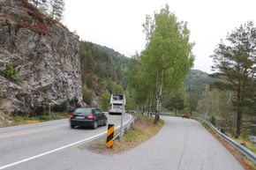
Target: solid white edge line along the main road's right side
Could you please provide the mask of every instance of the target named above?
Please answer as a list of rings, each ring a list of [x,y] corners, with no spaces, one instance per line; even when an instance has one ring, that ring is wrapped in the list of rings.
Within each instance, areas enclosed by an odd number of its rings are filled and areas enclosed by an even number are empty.
[[[130,116],[129,120],[128,120],[127,122],[124,122],[124,125],[131,121],[132,115],[129,115],[129,116]],[[119,127],[120,127],[120,125],[118,125],[116,129],[118,129]],[[78,142],[75,142],[75,143],[72,143],[72,144],[67,144],[67,145],[64,145],[64,146],[62,146],[62,147],[56,148],[55,150],[51,150],[51,151],[49,151],[49,152],[43,152],[43,153],[41,153],[41,154],[35,155],[34,157],[30,157],[30,158],[28,158],[28,159],[22,159],[22,160],[19,160],[19,161],[17,161],[17,162],[13,162],[13,163],[11,163],[11,164],[7,164],[7,165],[5,165],[5,166],[0,166],[0,170],[5,169],[5,168],[7,168],[7,167],[19,165],[19,164],[21,164],[21,163],[27,162],[27,161],[32,160],[32,159],[38,159],[38,158],[40,158],[40,157],[42,157],[42,156],[48,155],[48,154],[53,153],[53,152],[58,152],[58,151],[60,151],[60,150],[64,150],[65,148],[71,147],[71,146],[73,146],[73,145],[76,145],[76,144],[79,144],[79,143],[82,143],[82,142],[86,142],[86,141],[91,140],[91,139],[94,139],[94,138],[96,138],[96,137],[101,137],[101,136],[103,136],[103,135],[106,134],[106,133],[107,133],[107,131],[104,131],[104,132],[102,132],[102,133],[100,133],[100,134],[97,134],[97,135],[95,135],[95,136],[93,136],[93,137],[87,137],[87,138],[85,138],[85,139],[79,140]]]

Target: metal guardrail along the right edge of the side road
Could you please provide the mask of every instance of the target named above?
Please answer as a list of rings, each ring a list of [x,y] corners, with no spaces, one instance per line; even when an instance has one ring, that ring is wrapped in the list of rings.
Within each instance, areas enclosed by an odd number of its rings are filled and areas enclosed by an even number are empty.
[[[204,119],[201,119],[199,117],[193,117],[193,119],[196,120],[200,120],[201,122],[205,122],[207,123],[207,125],[209,127],[211,127],[211,129],[213,129],[215,131],[216,134],[218,134],[220,137],[222,137],[222,139],[224,139],[225,141],[227,141],[229,144],[231,144],[232,146],[234,146],[239,152],[241,152],[242,154],[245,155],[245,157],[247,157],[248,159],[251,159],[252,162],[254,164],[256,164],[256,155],[255,153],[251,152],[250,150],[248,150],[245,146],[243,146],[242,144],[237,143],[236,141],[234,141],[233,139],[231,139],[230,137],[226,136],[225,134],[223,134],[220,130],[216,129],[215,126],[210,123],[207,122]]]

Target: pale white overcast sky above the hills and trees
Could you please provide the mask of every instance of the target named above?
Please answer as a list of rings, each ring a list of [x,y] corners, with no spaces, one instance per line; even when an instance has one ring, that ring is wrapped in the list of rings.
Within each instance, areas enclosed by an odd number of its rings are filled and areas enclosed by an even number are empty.
[[[164,4],[187,21],[196,56],[193,69],[210,72],[216,45],[248,20],[256,23],[256,0],[65,0],[64,25],[81,40],[131,57],[145,48],[142,23]],[[255,24],[254,24],[255,26]]]

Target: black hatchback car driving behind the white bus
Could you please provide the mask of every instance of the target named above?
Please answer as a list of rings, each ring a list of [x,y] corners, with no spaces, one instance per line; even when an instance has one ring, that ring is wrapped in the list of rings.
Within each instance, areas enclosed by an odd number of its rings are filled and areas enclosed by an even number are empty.
[[[108,118],[99,108],[77,108],[70,115],[71,128],[90,126],[96,129],[99,125],[106,126]]]

